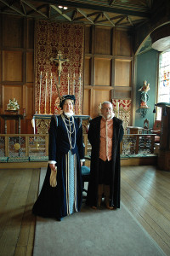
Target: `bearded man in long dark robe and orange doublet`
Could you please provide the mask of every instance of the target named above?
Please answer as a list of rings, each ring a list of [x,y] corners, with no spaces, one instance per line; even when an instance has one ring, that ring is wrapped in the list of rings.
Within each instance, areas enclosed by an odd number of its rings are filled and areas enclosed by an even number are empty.
[[[102,196],[108,209],[120,208],[120,143],[122,120],[114,117],[111,102],[103,102],[101,115],[90,121],[88,140],[92,145],[87,204],[97,209]]]

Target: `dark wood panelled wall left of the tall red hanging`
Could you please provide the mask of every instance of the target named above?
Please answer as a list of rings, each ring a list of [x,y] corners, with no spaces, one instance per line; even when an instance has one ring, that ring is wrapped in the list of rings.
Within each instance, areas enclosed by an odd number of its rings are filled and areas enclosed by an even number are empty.
[[[21,133],[33,133],[34,114],[34,20],[18,16],[0,15],[0,108],[7,109],[9,99],[20,104]],[[7,132],[14,133],[14,122],[8,120]],[[1,119],[1,133],[4,120]]]

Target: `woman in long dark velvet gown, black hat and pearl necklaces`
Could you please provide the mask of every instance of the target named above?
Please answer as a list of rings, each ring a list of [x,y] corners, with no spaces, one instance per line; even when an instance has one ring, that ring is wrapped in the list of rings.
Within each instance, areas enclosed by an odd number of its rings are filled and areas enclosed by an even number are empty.
[[[60,99],[63,113],[53,116],[49,128],[48,170],[32,212],[61,218],[81,210],[84,158],[81,119],[73,116],[75,96]]]

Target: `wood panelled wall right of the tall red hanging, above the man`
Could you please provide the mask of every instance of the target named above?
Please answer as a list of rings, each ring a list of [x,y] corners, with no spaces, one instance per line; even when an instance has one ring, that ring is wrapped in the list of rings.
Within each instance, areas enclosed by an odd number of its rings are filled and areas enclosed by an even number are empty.
[[[83,113],[93,118],[99,103],[113,98],[133,98],[132,36],[115,27],[86,26]]]

